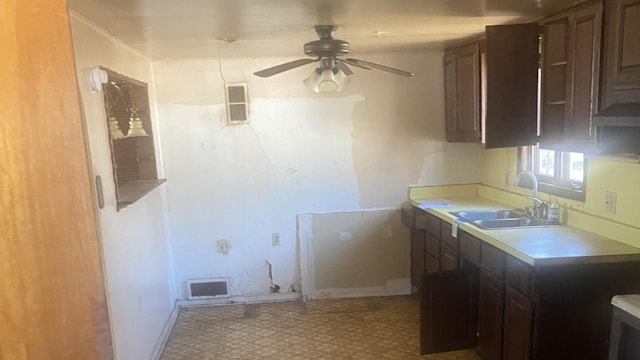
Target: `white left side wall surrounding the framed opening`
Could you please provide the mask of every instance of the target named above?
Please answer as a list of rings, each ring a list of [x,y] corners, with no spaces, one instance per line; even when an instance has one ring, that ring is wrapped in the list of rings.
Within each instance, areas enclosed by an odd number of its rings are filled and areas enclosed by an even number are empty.
[[[99,210],[99,222],[115,355],[119,360],[149,359],[176,299],[166,194],[161,186],[116,211],[103,95],[91,93],[87,76],[89,67],[102,65],[153,89],[151,63],[73,13],[71,29],[93,173],[102,176],[104,185],[106,204]],[[154,94],[150,95],[153,104]],[[152,121],[155,118],[152,108]],[[157,128],[154,132],[158,133]]]

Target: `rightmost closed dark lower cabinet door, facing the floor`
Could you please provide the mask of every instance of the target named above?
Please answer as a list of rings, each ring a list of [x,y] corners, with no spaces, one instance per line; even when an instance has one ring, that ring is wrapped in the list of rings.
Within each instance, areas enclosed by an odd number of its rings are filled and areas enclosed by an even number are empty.
[[[531,359],[533,305],[528,297],[507,288],[504,307],[504,360]]]

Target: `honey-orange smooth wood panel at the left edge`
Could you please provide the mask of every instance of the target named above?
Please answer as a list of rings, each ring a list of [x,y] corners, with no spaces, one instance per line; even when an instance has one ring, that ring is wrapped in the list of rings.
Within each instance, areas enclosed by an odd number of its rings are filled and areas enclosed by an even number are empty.
[[[114,358],[68,11],[0,10],[0,359]]]

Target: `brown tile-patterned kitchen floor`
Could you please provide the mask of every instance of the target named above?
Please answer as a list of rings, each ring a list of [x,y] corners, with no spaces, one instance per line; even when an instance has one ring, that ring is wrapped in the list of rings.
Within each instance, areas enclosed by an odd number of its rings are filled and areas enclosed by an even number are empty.
[[[183,308],[162,360],[481,360],[419,355],[418,297]]]

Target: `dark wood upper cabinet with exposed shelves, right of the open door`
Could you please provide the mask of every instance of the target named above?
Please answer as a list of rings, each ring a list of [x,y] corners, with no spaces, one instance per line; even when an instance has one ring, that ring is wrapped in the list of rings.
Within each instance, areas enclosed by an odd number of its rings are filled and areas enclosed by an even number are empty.
[[[598,109],[602,2],[542,22],[540,144],[585,151],[593,146],[591,120]]]

